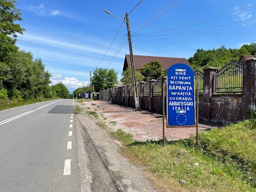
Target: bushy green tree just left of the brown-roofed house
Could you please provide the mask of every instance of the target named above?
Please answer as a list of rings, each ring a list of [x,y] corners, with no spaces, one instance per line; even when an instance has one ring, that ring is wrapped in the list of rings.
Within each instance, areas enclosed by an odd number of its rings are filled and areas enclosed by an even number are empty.
[[[93,71],[91,85],[99,92],[102,89],[113,88],[117,83],[117,72],[114,69],[96,68]]]

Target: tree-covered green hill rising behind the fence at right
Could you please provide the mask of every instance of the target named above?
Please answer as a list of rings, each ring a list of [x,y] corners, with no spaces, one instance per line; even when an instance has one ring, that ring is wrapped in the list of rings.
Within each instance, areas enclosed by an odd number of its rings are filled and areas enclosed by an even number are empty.
[[[188,61],[193,68],[221,67],[230,60],[238,61],[242,54],[256,55],[256,43],[244,44],[240,49],[227,49],[224,45],[219,49],[198,49]]]

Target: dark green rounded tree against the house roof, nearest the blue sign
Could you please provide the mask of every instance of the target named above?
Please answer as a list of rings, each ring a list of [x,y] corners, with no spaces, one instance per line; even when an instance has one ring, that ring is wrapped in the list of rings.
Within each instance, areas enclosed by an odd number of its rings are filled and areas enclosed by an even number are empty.
[[[146,63],[140,69],[141,69],[141,74],[145,77],[143,79],[144,81],[157,79],[158,77],[163,76],[163,66],[157,60]]]

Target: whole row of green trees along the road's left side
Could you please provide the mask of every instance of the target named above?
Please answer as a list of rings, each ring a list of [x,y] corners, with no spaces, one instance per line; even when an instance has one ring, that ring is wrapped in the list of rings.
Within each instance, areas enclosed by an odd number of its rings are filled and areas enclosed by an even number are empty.
[[[65,85],[50,86],[51,74],[45,70],[42,59],[19,50],[15,45],[17,34],[25,31],[17,21],[22,21],[15,0],[0,1],[0,103],[37,98],[68,98]]]

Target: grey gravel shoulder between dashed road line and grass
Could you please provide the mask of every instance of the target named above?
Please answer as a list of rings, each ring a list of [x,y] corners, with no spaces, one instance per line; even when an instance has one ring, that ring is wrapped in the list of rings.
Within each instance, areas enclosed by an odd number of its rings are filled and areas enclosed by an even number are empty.
[[[119,153],[118,142],[96,123],[88,114],[76,114],[81,191],[155,191],[141,169]]]

